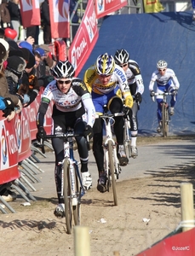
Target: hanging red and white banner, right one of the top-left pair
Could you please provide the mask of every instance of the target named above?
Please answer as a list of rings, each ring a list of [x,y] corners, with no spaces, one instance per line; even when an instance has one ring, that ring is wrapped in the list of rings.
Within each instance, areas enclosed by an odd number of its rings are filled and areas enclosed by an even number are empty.
[[[49,0],[52,38],[70,38],[70,0]]]

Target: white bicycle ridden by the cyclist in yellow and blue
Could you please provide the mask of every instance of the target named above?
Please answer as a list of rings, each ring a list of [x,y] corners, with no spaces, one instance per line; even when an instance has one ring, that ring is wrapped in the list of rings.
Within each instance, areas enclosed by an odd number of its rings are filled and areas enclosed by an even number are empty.
[[[104,148],[104,165],[106,171],[106,189],[109,192],[112,186],[113,201],[114,205],[118,206],[118,196],[116,189],[116,180],[119,178],[121,173],[121,167],[119,166],[117,156],[117,143],[112,137],[112,125],[114,125],[115,116],[123,116],[123,113],[108,113],[106,106],[104,107],[104,114],[96,116],[101,118],[105,124],[106,137],[103,142]]]

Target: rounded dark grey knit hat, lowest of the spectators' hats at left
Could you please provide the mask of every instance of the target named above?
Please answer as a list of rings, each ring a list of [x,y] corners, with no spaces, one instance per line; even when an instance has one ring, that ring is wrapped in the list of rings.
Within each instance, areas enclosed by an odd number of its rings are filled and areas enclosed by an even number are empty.
[[[26,68],[26,61],[19,56],[11,56],[8,58],[8,64],[6,69],[14,73],[15,75],[21,75]]]

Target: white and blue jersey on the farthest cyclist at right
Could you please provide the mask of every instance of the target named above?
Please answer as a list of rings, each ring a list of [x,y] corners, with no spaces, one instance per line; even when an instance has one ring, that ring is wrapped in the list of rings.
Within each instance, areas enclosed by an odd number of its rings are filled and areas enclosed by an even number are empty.
[[[170,68],[166,69],[166,72],[164,73],[163,76],[158,72],[158,70],[152,73],[152,79],[149,84],[149,90],[153,90],[155,82],[157,82],[158,87],[165,87],[166,85],[170,85],[174,89],[179,89],[180,87],[180,83],[177,77],[175,76],[175,72],[173,71],[173,69]]]

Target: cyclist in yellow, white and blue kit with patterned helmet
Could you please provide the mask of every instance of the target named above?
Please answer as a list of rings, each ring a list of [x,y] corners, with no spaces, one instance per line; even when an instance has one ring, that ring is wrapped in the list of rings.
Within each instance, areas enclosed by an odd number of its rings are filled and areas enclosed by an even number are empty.
[[[95,65],[89,67],[84,73],[84,82],[87,84],[89,92],[92,95],[92,101],[95,105],[95,111],[98,114],[104,112],[104,105],[111,113],[120,113],[123,111],[123,101],[128,107],[129,114],[133,106],[133,99],[129,92],[127,78],[123,68],[115,64],[112,55],[107,53],[98,56]],[[128,164],[128,158],[123,148],[123,117],[115,117],[114,132],[118,143],[118,160],[121,166]],[[98,167],[99,179],[97,189],[100,192],[106,192],[106,172],[104,169],[104,151],[102,148],[103,140],[103,120],[95,119],[93,127],[93,153]]]

